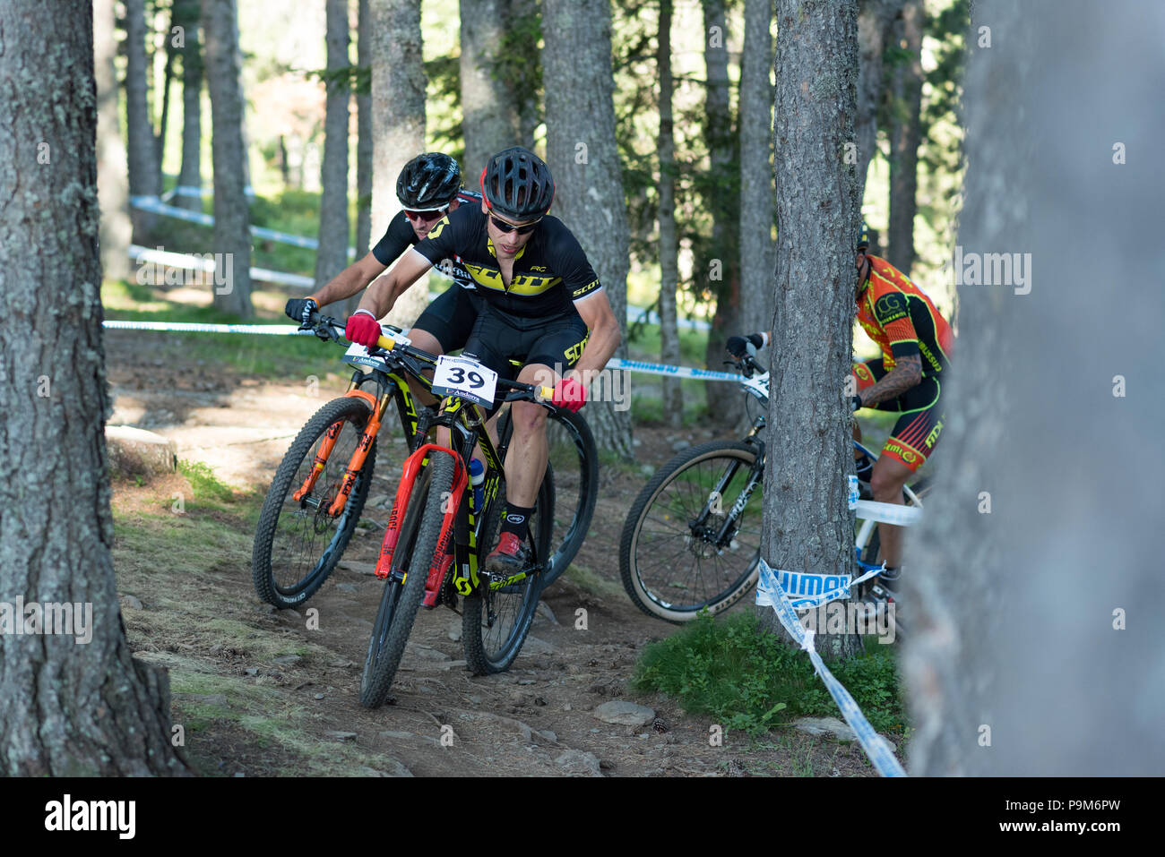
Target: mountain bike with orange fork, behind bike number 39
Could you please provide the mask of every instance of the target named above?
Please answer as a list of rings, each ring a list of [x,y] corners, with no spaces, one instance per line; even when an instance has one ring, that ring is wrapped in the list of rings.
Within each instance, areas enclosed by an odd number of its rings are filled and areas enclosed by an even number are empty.
[[[341,339],[343,325],[318,312],[309,326],[320,339]],[[397,327],[386,330],[401,334]],[[252,578],[259,597],[280,609],[305,603],[343,557],[368,497],[377,435],[391,420],[390,405],[395,405],[409,452],[419,442],[418,423],[428,409],[412,395],[400,355],[373,355],[352,346],[343,360],[353,367],[347,392],[320,408],[299,431],[259,516]],[[431,388],[424,374],[414,377],[424,389]],[[559,512],[546,562],[560,573],[591,525],[598,496],[598,454],[591,430],[579,415],[556,408],[548,418],[551,463],[546,479],[557,488]],[[497,431],[504,448],[513,432],[508,409],[499,418]]]

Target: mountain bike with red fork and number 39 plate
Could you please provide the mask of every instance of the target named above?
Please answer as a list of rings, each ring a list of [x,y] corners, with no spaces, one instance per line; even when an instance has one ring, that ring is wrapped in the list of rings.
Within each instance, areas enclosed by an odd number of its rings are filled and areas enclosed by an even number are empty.
[[[529,562],[513,574],[481,567],[499,532],[506,456],[506,445],[495,448],[485,428],[482,409],[497,404],[495,391],[501,389],[508,390],[504,402],[534,402],[555,410],[545,401],[553,388],[500,378],[472,355],[436,357],[400,337],[382,338],[381,347],[414,377],[423,366],[432,366],[431,389],[443,399],[436,413],[418,420],[423,442],[404,462],[376,562],[384,589],[360,681],[360,703],[367,708],[379,707],[388,696],[419,607],[445,604],[457,610],[460,596],[467,667],[479,675],[502,672],[522,650],[542,592],[566,568],[550,553],[555,507],[550,468],[528,524]],[[474,449],[485,460],[480,507],[468,479]]]

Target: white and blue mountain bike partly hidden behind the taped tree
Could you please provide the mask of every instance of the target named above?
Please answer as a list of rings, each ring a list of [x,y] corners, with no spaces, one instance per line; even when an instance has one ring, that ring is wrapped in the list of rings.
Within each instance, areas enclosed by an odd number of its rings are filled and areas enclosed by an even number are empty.
[[[648,616],[673,624],[691,622],[701,610],[727,610],[756,586],[769,373],[747,354],[739,368],[742,390],[760,404],[749,432],[677,454],[643,487],[623,525],[623,589]],[[877,459],[857,441],[854,448]],[[861,498],[873,500],[868,483],[859,488]],[[925,480],[906,487],[906,504],[922,507],[927,490]],[[862,572],[881,568],[875,522],[857,522],[854,548]],[[855,597],[864,597],[871,585],[860,585]]]

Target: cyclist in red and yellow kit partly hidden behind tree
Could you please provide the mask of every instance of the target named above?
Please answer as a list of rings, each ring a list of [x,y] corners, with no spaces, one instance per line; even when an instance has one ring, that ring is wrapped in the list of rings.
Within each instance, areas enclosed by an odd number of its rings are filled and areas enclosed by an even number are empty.
[[[949,367],[954,333],[926,293],[884,258],[870,254],[869,246],[863,224],[854,258],[856,318],[881,346],[882,355],[853,364],[856,395],[852,405],[855,411],[875,408],[902,413],[864,477],[874,500],[902,504],[903,487],[934,451],[942,431],[941,378]],[[769,335],[732,337],[727,349],[740,360],[768,345]],[[861,440],[856,423],[854,439]],[[880,523],[878,538],[885,560],[882,581],[892,589],[902,569],[902,529]]]

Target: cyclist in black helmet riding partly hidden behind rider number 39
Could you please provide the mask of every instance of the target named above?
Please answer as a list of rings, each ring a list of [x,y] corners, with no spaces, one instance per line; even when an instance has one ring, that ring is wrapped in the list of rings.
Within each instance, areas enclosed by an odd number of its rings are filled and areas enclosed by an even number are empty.
[[[457,161],[439,151],[417,155],[404,165],[396,179],[396,198],[403,210],[389,221],[376,246],[318,292],[288,300],[283,310],[288,316],[306,324],[313,310],[366,289],[402,253],[425,238],[446,213],[457,211],[460,205],[476,206],[481,201],[481,194],[461,189],[461,168]],[[440,260],[436,268],[451,277],[453,285],[421,313],[409,331],[409,339],[421,350],[447,354],[465,346],[478,320],[481,302],[473,278],[456,255]],[[356,312],[368,313],[367,310]],[[409,383],[415,395],[429,403],[435,401],[411,378]]]

